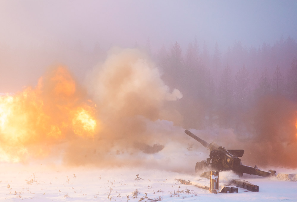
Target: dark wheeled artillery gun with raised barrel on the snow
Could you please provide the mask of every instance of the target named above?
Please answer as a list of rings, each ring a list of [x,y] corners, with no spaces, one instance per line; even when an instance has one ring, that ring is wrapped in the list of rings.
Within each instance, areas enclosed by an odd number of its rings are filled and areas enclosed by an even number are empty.
[[[207,158],[206,161],[203,160],[196,163],[196,173],[206,169],[212,169],[215,171],[233,170],[240,176],[242,176],[243,173],[247,173],[250,175],[259,175],[262,177],[275,176],[276,171],[274,170],[263,171],[258,169],[257,166],[251,167],[243,165],[240,158],[238,158],[242,157],[242,155],[244,154],[244,150],[242,149],[226,150],[224,147],[217,145],[215,142],[212,142],[210,144],[207,143],[188,130],[185,130],[185,133],[200,142],[210,151],[209,158]]]

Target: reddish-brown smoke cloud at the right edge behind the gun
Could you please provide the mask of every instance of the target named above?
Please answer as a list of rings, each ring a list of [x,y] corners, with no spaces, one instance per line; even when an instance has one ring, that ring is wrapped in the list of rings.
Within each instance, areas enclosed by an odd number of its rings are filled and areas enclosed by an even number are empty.
[[[250,117],[254,130],[247,141],[247,161],[259,165],[296,168],[297,120],[295,103],[282,96],[268,95],[255,103]],[[269,166],[267,166],[269,167]]]

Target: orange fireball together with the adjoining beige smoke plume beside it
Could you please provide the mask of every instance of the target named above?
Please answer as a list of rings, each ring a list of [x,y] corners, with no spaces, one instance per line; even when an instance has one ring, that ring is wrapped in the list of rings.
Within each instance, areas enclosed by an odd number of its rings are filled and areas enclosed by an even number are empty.
[[[181,97],[137,49],[111,50],[88,74],[86,88],[67,67],[49,68],[35,88],[1,96],[1,161],[141,165],[170,138],[162,137],[163,126],[154,131],[148,124],[170,123],[164,105]]]

